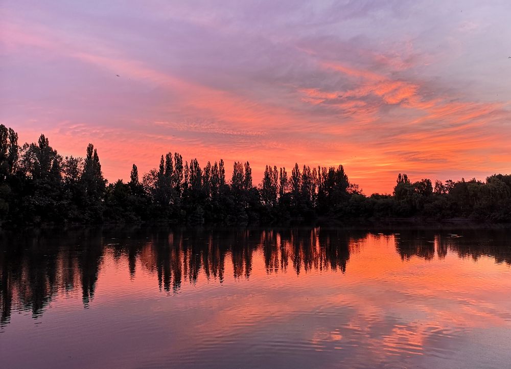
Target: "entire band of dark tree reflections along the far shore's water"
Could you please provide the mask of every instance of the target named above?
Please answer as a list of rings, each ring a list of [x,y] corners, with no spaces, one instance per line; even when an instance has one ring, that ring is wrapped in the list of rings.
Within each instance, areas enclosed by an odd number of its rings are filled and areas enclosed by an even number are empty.
[[[384,235],[393,240],[403,260],[449,252],[477,260],[483,256],[511,265],[511,235],[503,230],[451,233],[401,230]],[[83,305],[92,303],[104,258],[124,263],[131,279],[137,267],[154,275],[160,290],[176,293],[183,281],[201,278],[223,283],[232,264],[234,278],[249,278],[254,259],[266,273],[313,270],[346,271],[347,261],[365,232],[315,228],[105,228],[72,230],[64,235],[21,234],[0,239],[0,325],[13,309],[38,317],[58,294],[80,291]],[[371,236],[373,237],[373,236]],[[255,264],[257,265],[257,264]]]

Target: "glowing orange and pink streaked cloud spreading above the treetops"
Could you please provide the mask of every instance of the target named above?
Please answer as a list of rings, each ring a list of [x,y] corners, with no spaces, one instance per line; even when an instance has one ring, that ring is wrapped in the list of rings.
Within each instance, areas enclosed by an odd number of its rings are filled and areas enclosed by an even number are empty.
[[[222,157],[227,168],[248,159],[255,182],[266,164],[343,164],[367,194],[391,192],[398,172],[434,180],[480,177],[511,165],[505,148],[510,132],[503,128],[509,107],[462,91],[435,91],[431,81],[407,74],[415,62],[411,44],[385,55],[361,52],[367,62],[359,67],[297,48],[310,68],[304,76],[317,77],[257,82],[264,83],[259,94],[256,87],[179,74],[94,37],[76,43],[73,35],[16,20],[2,31],[6,53],[46,51],[104,77],[105,88],[78,93],[80,102],[68,110],[59,105],[67,96],[43,113],[38,106],[19,112],[10,104],[14,118],[4,122],[21,127],[20,141],[47,134],[63,154],[83,155],[94,143],[110,181],[127,179],[132,163],[149,170],[167,151],[197,157],[202,165]],[[103,110],[84,118],[98,101]],[[78,110],[82,102],[86,108]]]

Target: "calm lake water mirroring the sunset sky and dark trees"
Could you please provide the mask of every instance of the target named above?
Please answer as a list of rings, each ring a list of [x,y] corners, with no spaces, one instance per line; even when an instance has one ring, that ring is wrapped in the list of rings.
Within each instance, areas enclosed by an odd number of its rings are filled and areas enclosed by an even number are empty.
[[[0,366],[510,367],[511,230],[79,229],[0,245]]]

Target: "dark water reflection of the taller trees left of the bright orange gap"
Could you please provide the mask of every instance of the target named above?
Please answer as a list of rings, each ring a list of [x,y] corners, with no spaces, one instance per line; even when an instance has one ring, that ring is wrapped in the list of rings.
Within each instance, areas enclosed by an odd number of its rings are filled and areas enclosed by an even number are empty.
[[[342,241],[341,241],[342,239]],[[94,299],[105,253],[126,261],[135,278],[137,260],[155,272],[161,290],[177,292],[183,278],[196,283],[201,273],[222,283],[230,253],[234,278],[249,278],[254,252],[262,249],[267,272],[297,274],[311,269],[345,270],[348,239],[336,231],[313,229],[84,229],[65,235],[26,235],[4,240],[0,253],[1,322],[13,304],[37,317],[59,293],[81,288],[83,305]]]

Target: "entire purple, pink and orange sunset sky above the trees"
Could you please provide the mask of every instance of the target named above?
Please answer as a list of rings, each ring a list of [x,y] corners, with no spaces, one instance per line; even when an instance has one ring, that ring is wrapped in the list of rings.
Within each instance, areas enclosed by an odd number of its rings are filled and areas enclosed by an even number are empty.
[[[511,173],[511,2],[0,1],[0,123],[109,181],[184,160]]]

